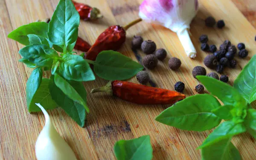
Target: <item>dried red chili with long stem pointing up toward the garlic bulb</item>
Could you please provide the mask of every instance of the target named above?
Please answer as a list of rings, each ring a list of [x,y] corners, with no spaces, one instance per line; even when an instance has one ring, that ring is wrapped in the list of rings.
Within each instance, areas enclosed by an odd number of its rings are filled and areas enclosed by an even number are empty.
[[[99,35],[96,42],[85,54],[84,58],[88,60],[96,60],[97,55],[105,50],[117,50],[125,42],[126,30],[134,24],[140,22],[141,19],[132,21],[126,26],[110,26],[102,34]]]

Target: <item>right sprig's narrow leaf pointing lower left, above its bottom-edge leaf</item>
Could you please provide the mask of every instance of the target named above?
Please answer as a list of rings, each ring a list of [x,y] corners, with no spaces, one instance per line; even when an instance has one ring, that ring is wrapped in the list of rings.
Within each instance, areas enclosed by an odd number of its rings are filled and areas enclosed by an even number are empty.
[[[245,132],[245,126],[242,123],[234,123],[233,121],[225,121],[221,123],[203,142],[198,149],[210,146],[220,140],[233,137],[234,135]]]

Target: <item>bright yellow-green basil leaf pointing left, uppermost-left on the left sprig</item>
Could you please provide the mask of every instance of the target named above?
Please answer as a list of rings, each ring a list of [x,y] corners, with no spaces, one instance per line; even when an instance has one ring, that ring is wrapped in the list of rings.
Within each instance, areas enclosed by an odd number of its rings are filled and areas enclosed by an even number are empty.
[[[27,36],[28,34],[36,34],[38,36],[47,38],[47,31],[48,23],[34,22],[20,26],[19,28],[9,33],[8,37],[27,46],[29,45],[29,37]]]

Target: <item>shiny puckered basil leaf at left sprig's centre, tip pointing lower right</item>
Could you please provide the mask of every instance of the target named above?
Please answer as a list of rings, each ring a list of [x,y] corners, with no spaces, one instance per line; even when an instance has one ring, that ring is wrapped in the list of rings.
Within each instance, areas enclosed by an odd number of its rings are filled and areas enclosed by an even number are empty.
[[[64,54],[59,66],[59,72],[67,80],[90,81],[95,80],[93,71],[83,57]]]

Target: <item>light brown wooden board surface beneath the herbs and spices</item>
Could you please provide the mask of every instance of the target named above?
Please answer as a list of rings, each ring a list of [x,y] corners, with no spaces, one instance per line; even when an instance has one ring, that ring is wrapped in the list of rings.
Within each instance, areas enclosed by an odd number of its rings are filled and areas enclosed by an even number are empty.
[[[200,0],[200,10],[191,25],[192,42],[198,56],[192,60],[186,56],[177,35],[161,26],[139,23],[127,32],[127,41],[119,51],[136,60],[131,51],[131,37],[141,35],[145,40],[154,40],[157,48],[165,48],[168,57],[160,62],[156,69],[150,71],[157,87],[174,89],[177,81],[186,85],[184,94],[196,94],[198,81],[192,77],[192,69],[203,65],[207,53],[200,50],[198,37],[208,34],[209,43],[219,46],[229,39],[233,44],[244,42],[250,51],[244,60],[236,59],[236,69],[226,69],[224,74],[230,76],[230,84],[255,54],[254,36],[255,0]],[[142,0],[79,0],[79,2],[96,6],[105,16],[95,23],[81,21],[79,36],[90,43],[108,26],[125,25],[138,17],[138,6]],[[22,63],[18,50],[23,46],[7,35],[17,27],[51,17],[58,0],[0,0],[0,159],[35,160],[35,140],[44,126],[42,113],[29,114],[26,109],[26,81],[32,71]],[[235,5],[236,4],[236,5]],[[254,7],[253,7],[254,6]],[[241,9],[241,11],[239,11]],[[243,14],[246,16],[244,17]],[[204,26],[204,18],[212,15],[217,20],[224,19],[225,29],[209,29]],[[248,16],[253,15],[253,16]],[[250,24],[247,19],[251,21]],[[142,56],[143,53],[140,52]],[[170,57],[178,57],[182,67],[178,71],[168,69]],[[211,70],[207,69],[209,73]],[[137,83],[135,78],[130,81]],[[103,86],[107,83],[96,77],[96,81],[84,83],[86,90]],[[88,94],[90,114],[85,128],[80,128],[62,109],[49,111],[57,131],[69,143],[79,160],[112,160],[115,159],[113,146],[117,140],[132,139],[149,134],[154,149],[155,160],[198,160],[200,151],[195,150],[211,131],[182,131],[158,123],[154,118],[168,106],[137,105],[106,94]],[[247,133],[233,138],[242,159],[256,159],[256,142]]]

